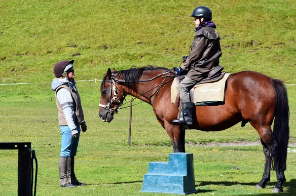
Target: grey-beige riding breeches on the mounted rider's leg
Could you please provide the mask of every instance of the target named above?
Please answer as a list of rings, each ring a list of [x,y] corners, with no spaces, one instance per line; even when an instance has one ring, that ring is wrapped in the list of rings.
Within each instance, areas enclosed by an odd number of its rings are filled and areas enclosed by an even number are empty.
[[[196,80],[185,77],[180,84],[178,84],[178,91],[181,102],[190,102],[189,91],[197,83]]]

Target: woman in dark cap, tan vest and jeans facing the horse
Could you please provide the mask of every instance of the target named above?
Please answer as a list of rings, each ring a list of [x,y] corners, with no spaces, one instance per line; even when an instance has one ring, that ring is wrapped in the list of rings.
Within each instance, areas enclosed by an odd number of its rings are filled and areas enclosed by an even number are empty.
[[[74,173],[74,157],[77,153],[80,130],[85,132],[85,124],[80,97],[75,86],[75,72],[72,61],[59,61],[53,66],[56,78],[52,80],[51,89],[55,91],[58,118],[62,135],[59,158],[60,186],[74,188],[86,186],[80,183]],[[81,126],[81,129],[80,129]]]

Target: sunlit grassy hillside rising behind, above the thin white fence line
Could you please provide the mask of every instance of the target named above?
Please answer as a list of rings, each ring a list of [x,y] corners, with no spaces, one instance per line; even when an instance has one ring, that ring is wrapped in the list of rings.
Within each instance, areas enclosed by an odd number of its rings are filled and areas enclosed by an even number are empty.
[[[1,83],[50,81],[52,66],[74,59],[80,78],[108,67],[180,65],[193,39],[195,1],[26,0],[0,4]],[[228,72],[254,70],[295,83],[292,0],[210,0]],[[79,55],[80,54],[80,55]]]

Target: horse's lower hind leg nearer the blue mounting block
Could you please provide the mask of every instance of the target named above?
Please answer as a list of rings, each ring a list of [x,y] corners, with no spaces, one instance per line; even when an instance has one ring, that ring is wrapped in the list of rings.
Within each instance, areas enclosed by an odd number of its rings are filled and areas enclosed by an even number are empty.
[[[256,189],[264,189],[267,182],[270,181],[270,168],[271,168],[271,156],[268,148],[261,140],[261,144],[263,146],[263,153],[265,155],[265,166],[264,166],[264,173],[262,176],[261,181],[256,185]]]

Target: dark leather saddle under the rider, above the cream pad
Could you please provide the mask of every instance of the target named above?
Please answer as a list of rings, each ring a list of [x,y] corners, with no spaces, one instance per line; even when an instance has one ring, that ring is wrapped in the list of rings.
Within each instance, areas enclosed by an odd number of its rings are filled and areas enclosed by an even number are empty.
[[[207,78],[202,79],[201,81],[197,82],[195,85],[219,81],[226,74],[226,72],[222,72],[223,69],[224,69],[223,66],[218,65],[211,72],[209,72]],[[185,76],[178,76],[177,77],[177,84],[179,84],[184,78],[185,78]],[[190,89],[189,95],[190,95],[190,101],[193,101],[193,99],[194,99],[194,87]],[[179,96],[179,93],[178,93],[177,97],[176,97],[176,103],[178,103],[178,106],[179,106],[179,101],[180,101],[180,96]]]

